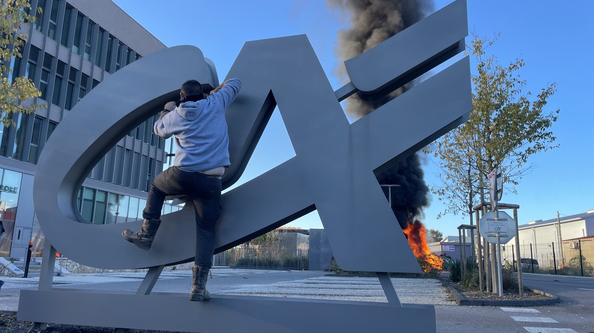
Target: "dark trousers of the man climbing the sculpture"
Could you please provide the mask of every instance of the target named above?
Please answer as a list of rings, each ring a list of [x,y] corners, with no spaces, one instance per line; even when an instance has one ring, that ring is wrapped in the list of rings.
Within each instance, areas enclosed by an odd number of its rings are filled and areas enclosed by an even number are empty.
[[[221,213],[221,190],[219,177],[170,167],[154,178],[143,218],[160,218],[165,196],[188,196],[186,204],[193,204],[196,213],[195,265],[210,268],[214,254],[214,227]]]

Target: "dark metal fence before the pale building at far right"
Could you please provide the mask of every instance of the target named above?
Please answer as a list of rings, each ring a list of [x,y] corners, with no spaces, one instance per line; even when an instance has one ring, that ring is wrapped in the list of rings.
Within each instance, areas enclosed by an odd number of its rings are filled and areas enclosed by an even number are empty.
[[[514,245],[507,244],[501,257],[514,269],[520,262],[522,271],[527,273],[594,276],[594,239],[564,240],[561,244],[521,243],[519,261]]]

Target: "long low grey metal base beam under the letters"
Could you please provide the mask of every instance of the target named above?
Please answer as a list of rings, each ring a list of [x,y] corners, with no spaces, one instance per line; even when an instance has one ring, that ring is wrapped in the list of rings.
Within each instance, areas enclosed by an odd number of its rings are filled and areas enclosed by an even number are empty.
[[[25,303],[27,314],[21,314]],[[296,313],[307,321],[296,319]],[[187,294],[133,297],[57,289],[21,291],[18,319],[212,333],[380,332],[386,328],[435,332],[433,306],[221,295],[211,296],[208,302],[189,302]]]

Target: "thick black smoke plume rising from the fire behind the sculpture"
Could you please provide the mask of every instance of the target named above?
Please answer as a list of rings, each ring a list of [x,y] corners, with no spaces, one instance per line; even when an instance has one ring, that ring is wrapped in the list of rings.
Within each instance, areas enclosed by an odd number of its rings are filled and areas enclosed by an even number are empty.
[[[344,61],[360,55],[378,43],[394,36],[405,28],[421,20],[433,11],[432,0],[326,0],[330,8],[347,12],[350,27],[339,31],[338,45],[335,49],[340,58],[337,74],[348,82]],[[409,83],[383,99],[369,103],[354,94],[346,99],[346,113],[359,119],[372,110],[389,102],[412,87]],[[380,184],[396,184],[392,188],[392,210],[405,229],[407,221],[422,217],[422,209],[429,204],[429,188],[423,179],[423,170],[417,154],[412,154],[391,169],[378,175]],[[387,188],[384,192],[387,195]]]

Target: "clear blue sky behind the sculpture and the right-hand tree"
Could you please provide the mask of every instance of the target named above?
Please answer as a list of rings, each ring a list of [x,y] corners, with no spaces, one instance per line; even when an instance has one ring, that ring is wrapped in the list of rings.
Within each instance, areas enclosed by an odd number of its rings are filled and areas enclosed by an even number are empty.
[[[173,0],[166,4],[160,0],[113,1],[166,46],[200,47],[216,64],[221,80],[244,42],[305,33],[334,89],[342,86],[334,74],[338,60],[333,48],[337,31],[348,21],[330,11],[322,0]],[[436,0],[435,9],[450,2]],[[520,72],[527,80],[526,90],[538,93],[550,83],[558,84],[558,91],[545,110],[561,109],[552,128],[560,148],[533,156],[530,161],[538,167],[517,186],[517,195],[504,195],[502,200],[520,205],[520,224],[554,218],[557,210],[563,216],[594,209],[593,12],[594,2],[587,0],[570,4],[549,0],[468,1],[470,31],[479,36],[501,32],[491,52],[502,64],[517,57],[526,61]],[[240,182],[294,155],[276,111]],[[428,185],[437,182],[436,172],[428,158]],[[446,215],[437,220],[443,209],[433,196],[431,206],[425,210],[424,223],[445,235],[457,234],[456,227],[467,223],[467,216]],[[315,212],[289,225],[304,229],[322,227]]]

